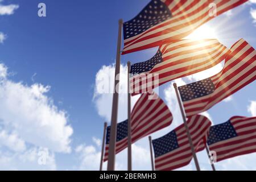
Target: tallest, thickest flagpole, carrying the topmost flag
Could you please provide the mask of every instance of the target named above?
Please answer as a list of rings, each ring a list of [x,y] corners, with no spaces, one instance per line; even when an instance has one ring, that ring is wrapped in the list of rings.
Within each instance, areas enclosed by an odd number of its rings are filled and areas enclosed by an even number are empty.
[[[114,93],[113,93],[113,102],[112,102],[108,171],[114,171],[115,169],[115,143],[117,138],[118,92],[119,92],[119,77],[120,77],[119,73],[120,73],[123,20],[119,19],[118,24],[119,24],[119,29],[118,29],[118,40],[117,40],[117,57],[115,59],[115,77],[114,77],[115,84],[114,84]]]

